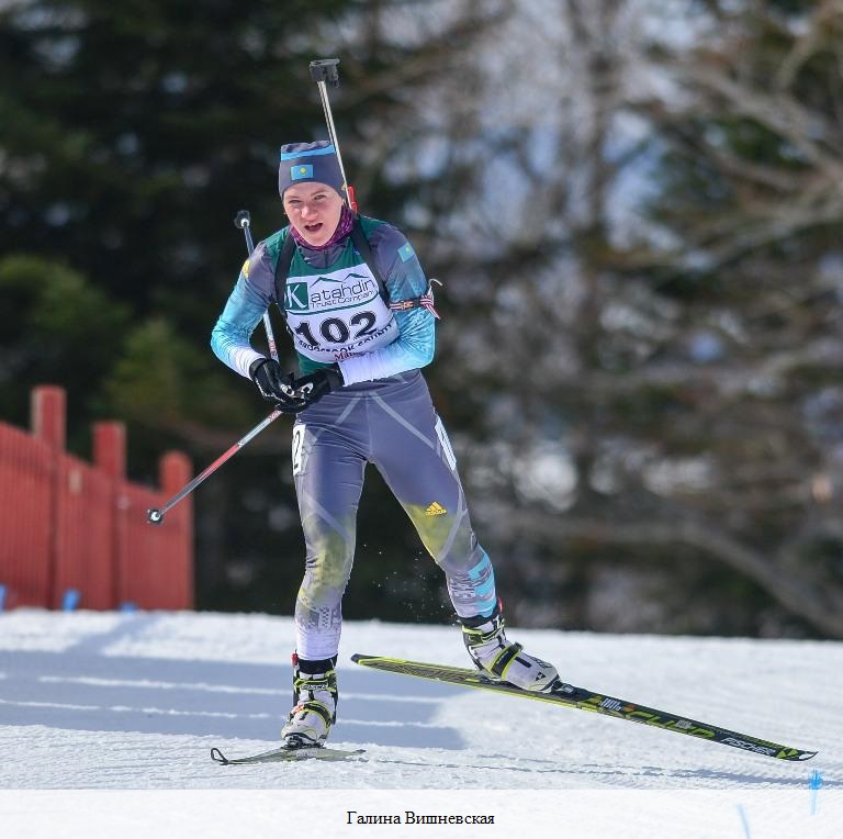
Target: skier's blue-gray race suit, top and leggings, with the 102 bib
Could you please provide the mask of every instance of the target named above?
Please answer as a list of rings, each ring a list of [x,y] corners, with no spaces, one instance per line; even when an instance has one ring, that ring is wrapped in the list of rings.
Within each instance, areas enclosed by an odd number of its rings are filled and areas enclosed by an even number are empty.
[[[424,294],[428,281],[403,233],[367,216],[360,223],[389,303]],[[345,387],[301,411],[293,426],[293,476],[306,546],[295,603],[297,655],[337,655],[369,462],[445,572],[457,615],[491,615],[497,602],[492,563],[472,529],[453,450],[419,369],[434,357],[434,315],[425,307],[391,309],[350,236],[328,248],[297,244],[277,289],[276,266],[288,235],[289,226],[256,246],[211,345],[223,362],[248,377],[262,356],[250,336],[277,303],[301,372],[337,362],[345,380]]]

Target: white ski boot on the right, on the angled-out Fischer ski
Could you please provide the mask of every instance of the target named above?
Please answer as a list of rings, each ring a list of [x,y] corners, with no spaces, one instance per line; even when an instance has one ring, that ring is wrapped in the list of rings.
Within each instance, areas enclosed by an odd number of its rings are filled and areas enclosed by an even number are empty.
[[[499,603],[488,617],[461,617],[460,623],[471,660],[491,680],[537,693],[549,692],[559,684],[553,664],[528,656],[520,644],[507,640]]]

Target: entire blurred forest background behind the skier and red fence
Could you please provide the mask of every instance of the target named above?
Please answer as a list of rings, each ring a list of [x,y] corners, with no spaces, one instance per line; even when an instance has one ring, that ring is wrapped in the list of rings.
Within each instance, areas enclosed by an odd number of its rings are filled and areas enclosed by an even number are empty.
[[[426,376],[509,622],[843,637],[834,0],[0,3],[0,417],[63,384],[69,448],[123,419],[151,483],[266,415],[210,332],[330,56],[361,210],[445,282]],[[199,608],[292,612],[289,446],[196,492]],[[451,619],[373,469],[345,614]]]

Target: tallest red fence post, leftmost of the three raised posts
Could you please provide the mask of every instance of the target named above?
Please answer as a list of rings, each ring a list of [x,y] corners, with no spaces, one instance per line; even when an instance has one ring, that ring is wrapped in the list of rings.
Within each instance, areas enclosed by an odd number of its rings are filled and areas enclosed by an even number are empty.
[[[33,436],[49,446],[53,451],[53,468],[49,481],[49,515],[44,526],[50,534],[49,561],[43,603],[47,608],[58,605],[55,591],[56,570],[61,558],[61,533],[58,527],[58,493],[61,480],[60,459],[67,438],[67,400],[65,389],[55,384],[42,384],[32,391],[30,422]]]

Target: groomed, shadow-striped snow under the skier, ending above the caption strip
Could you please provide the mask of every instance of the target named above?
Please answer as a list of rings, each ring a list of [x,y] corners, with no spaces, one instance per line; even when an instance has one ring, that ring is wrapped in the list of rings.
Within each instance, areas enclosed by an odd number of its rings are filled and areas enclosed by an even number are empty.
[[[787,763],[363,671],[351,652],[465,658],[453,627],[348,622],[331,745],[362,759],[218,767],[212,747],[235,758],[277,745],[289,617],[18,609],[0,615],[0,788],[807,790],[813,769],[824,788],[843,787],[841,644],[512,635],[572,683],[821,753]]]

